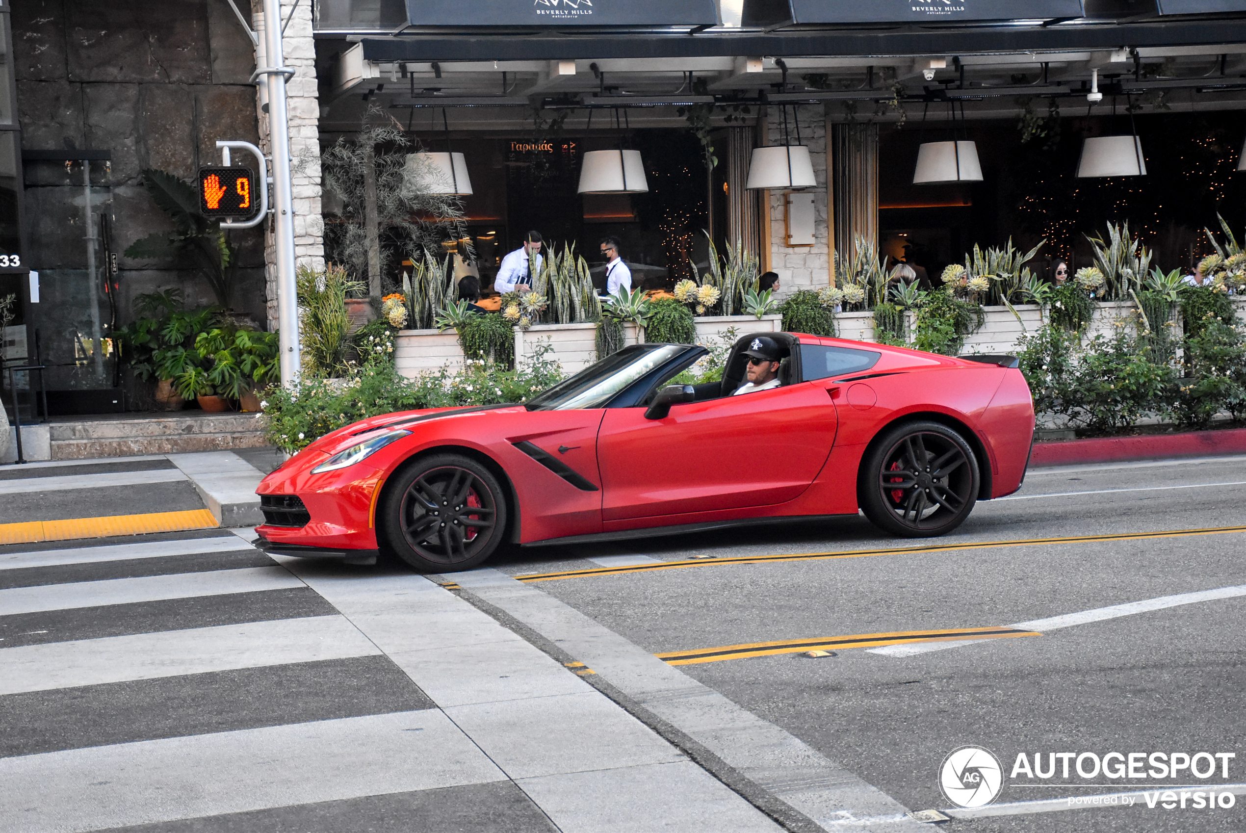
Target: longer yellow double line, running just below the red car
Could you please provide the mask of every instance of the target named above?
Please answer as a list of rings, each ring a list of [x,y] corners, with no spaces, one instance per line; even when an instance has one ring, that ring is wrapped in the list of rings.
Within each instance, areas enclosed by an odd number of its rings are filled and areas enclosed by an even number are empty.
[[[1144,540],[1148,538],[1187,538],[1190,535],[1224,535],[1246,532],[1246,527],[1209,527],[1206,529],[1170,529],[1165,532],[1133,532],[1115,535],[1070,535],[1067,538],[1025,538],[1019,540],[968,542],[959,544],[927,544],[925,547],[898,547],[892,549],[847,549],[837,553],[796,553],[792,555],[741,555],[738,558],[705,558],[689,562],[659,562],[655,564],[629,564],[627,567],[598,567],[591,570],[564,570],[561,573],[535,573],[516,575],[525,584],[537,581],[558,581],[562,579],[584,579],[596,575],[619,575],[625,573],[654,573],[658,570],[678,570],[690,567],[721,567],[724,564],[770,564],[775,562],[817,562],[832,558],[866,558],[868,555],[912,555],[920,553],[944,553],[963,549],[988,549],[991,547],[1037,547],[1043,544],[1094,544],[1113,540]]]

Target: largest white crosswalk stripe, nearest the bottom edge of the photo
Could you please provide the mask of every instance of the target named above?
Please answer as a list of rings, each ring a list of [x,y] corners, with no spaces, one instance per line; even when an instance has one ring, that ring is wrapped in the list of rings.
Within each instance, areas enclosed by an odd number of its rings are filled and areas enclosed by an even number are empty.
[[[439,710],[0,758],[0,833],[171,822],[505,781]]]

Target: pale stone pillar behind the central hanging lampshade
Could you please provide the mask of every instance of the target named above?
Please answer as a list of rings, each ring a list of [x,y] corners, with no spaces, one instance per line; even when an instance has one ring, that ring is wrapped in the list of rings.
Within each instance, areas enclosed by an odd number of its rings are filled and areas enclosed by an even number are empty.
[[[770,192],[770,263],[779,274],[780,298],[797,289],[819,289],[830,283],[830,234],[827,225],[826,117],[821,106],[787,110],[787,137],[796,143],[795,118],[800,120],[800,141],[809,147],[817,187],[812,188],[816,219],[811,247],[786,245],[785,192]],[[768,117],[770,144],[784,143],[782,111],[770,107]]]

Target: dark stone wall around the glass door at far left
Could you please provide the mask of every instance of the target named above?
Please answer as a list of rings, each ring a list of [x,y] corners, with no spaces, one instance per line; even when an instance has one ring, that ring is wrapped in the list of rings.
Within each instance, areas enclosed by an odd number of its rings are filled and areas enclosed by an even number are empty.
[[[132,319],[135,295],[181,288],[189,304],[216,303],[207,281],[176,263],[128,259],[135,240],[172,229],[142,184],[143,168],[191,179],[219,157],[217,139],[259,138],[250,41],[223,0],[116,0],[87,4],[22,0],[12,6],[14,59],[22,149],[111,152],[92,166],[92,204],[107,205],[118,253],[118,325]],[[72,345],[57,342],[76,326],[88,285],[81,169],[29,162],[25,260],[42,276],[35,310],[44,357],[61,364]],[[239,247],[234,308],[263,324],[263,237],[233,232]],[[183,264],[184,265],[184,264]],[[105,311],[105,315],[107,313]],[[83,319],[85,320],[85,319]],[[51,354],[51,355],[50,355]],[[64,377],[64,379],[61,379]],[[50,387],[92,387],[71,369],[54,369]]]

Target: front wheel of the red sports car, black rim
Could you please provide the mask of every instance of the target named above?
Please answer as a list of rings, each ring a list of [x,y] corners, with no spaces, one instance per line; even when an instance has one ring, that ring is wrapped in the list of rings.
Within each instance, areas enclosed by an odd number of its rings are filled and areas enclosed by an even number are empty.
[[[378,525],[390,550],[421,573],[468,570],[502,542],[506,497],[475,459],[435,454],[397,474],[379,507]]]

